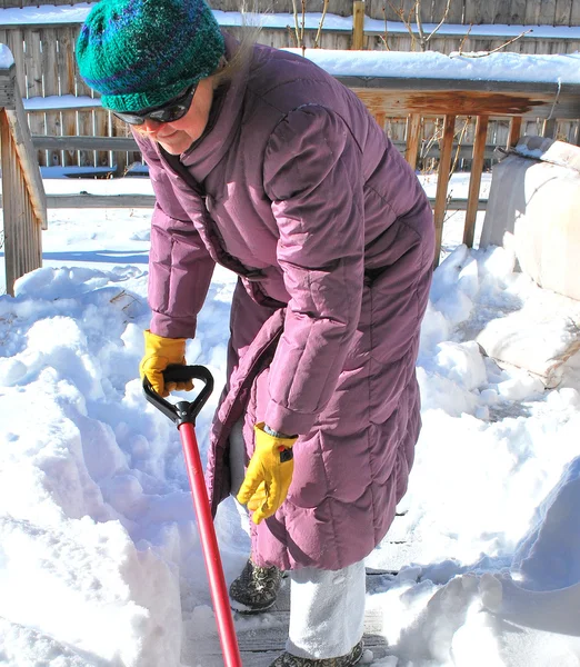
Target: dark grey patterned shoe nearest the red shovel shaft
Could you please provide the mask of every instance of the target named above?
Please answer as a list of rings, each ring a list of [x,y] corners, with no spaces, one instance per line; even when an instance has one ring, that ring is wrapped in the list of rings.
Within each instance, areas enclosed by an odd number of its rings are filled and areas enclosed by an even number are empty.
[[[241,575],[230,586],[230,606],[240,614],[259,614],[276,603],[282,570],[259,567],[248,559]]]

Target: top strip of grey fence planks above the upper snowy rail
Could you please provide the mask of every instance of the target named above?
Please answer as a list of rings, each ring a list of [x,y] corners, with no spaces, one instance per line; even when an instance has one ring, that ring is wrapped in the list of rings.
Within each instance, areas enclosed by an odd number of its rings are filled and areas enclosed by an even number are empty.
[[[80,4],[84,0],[0,0],[0,8],[39,7],[42,4]],[[393,8],[412,11],[416,0],[366,0],[366,14],[373,19],[398,20]],[[239,11],[240,0],[211,0],[213,9]],[[291,0],[254,0],[249,6],[258,11],[292,12]],[[422,0],[421,19],[438,23],[447,0]],[[323,0],[307,0],[307,11],[322,10]],[[347,17],[352,0],[330,0],[329,12]],[[580,0],[451,0],[448,23],[500,23],[508,26],[580,26]]]

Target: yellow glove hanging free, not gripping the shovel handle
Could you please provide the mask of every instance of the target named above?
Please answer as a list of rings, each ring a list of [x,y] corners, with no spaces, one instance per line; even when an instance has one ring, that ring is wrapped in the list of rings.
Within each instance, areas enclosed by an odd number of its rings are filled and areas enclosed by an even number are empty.
[[[256,449],[237,498],[254,510],[252,520],[259,524],[271,517],[286,500],[294,471],[292,446],[297,438],[271,436],[264,431],[263,421],[253,430]]]

